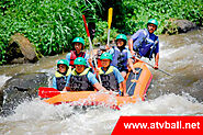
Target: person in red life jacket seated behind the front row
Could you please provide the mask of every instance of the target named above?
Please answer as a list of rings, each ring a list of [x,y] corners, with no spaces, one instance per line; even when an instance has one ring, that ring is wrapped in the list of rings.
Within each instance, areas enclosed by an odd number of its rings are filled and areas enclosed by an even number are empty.
[[[82,49],[84,48],[84,40],[82,37],[76,37],[72,41],[72,46],[74,46],[75,50],[70,50],[70,53],[68,53],[66,55],[66,59],[68,60],[69,65],[72,68],[75,67],[74,60],[78,57],[84,58],[88,67],[90,65],[92,65],[92,61],[89,58],[89,55],[87,53],[82,52]]]

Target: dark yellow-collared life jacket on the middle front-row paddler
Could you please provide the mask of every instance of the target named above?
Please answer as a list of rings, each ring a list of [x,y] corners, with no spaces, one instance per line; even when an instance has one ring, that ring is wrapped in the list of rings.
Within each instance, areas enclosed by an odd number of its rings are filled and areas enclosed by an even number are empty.
[[[90,68],[86,68],[80,75],[76,72],[76,69],[72,70],[70,76],[70,90],[71,91],[93,91],[93,86],[88,80],[88,72]]]

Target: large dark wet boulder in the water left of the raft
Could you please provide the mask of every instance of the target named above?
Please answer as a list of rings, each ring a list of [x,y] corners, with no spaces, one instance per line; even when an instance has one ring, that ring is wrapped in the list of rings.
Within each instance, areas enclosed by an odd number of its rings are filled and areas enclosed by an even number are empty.
[[[46,72],[19,74],[9,79],[0,89],[1,115],[9,115],[24,100],[37,97],[40,87],[48,86]]]

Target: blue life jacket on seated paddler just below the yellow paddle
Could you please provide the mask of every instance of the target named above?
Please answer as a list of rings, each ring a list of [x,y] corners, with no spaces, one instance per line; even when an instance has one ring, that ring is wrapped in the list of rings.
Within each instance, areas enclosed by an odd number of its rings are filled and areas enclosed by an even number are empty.
[[[127,69],[127,48],[125,47],[122,52],[113,46],[114,56],[111,63],[111,66],[116,67],[119,70]]]

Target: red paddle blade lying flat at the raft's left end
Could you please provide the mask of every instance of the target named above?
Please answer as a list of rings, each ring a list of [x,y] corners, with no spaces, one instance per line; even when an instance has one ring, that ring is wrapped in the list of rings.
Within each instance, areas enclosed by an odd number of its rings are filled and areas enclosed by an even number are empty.
[[[40,87],[38,88],[38,95],[41,98],[52,98],[52,97],[55,97],[59,93],[60,93],[60,91],[58,91],[57,89],[54,89],[54,88],[47,88],[47,87]]]

